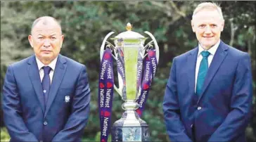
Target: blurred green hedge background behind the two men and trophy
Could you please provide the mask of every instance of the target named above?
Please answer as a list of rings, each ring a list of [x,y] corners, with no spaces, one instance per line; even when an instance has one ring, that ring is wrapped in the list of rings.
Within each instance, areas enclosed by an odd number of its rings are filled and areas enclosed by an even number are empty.
[[[60,53],[87,65],[91,88],[91,113],[84,128],[83,141],[99,141],[98,72],[100,46],[108,32],[115,37],[124,32],[127,22],[133,31],[151,32],[160,47],[159,67],[142,119],[151,131],[152,141],[169,141],[162,115],[162,100],[172,58],[193,49],[198,41],[191,30],[194,8],[202,1],[1,1],[1,90],[6,67],[32,55],[27,36],[32,22],[50,15],[61,23],[65,39]],[[222,41],[251,56],[253,107],[246,129],[248,142],[256,141],[255,105],[255,18],[256,1],[215,1],[222,7],[225,19]],[[109,40],[110,41],[110,40]],[[149,41],[149,40],[148,40]],[[148,42],[146,41],[146,42]],[[2,97],[2,94],[1,94]],[[1,99],[2,100],[2,99]],[[122,100],[114,94],[112,123],[122,112]],[[1,141],[8,141],[1,110]]]

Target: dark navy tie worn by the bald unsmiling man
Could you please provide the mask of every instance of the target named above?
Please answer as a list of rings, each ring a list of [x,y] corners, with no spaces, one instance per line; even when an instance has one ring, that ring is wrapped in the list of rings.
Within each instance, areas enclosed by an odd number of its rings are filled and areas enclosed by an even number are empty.
[[[49,95],[50,86],[51,86],[51,80],[50,80],[50,76],[49,76],[49,73],[51,72],[51,67],[44,66],[42,68],[44,69],[44,77],[43,77],[43,80],[41,81],[41,86],[43,87],[44,104],[46,105],[48,95]]]

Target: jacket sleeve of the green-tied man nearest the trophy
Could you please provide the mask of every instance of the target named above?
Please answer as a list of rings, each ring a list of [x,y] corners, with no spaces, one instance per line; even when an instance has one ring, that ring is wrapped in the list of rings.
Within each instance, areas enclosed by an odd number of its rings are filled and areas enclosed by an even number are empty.
[[[162,104],[167,134],[171,141],[191,141],[186,135],[186,129],[181,122],[179,101],[177,97],[177,79],[175,58],[165,89],[165,97]]]

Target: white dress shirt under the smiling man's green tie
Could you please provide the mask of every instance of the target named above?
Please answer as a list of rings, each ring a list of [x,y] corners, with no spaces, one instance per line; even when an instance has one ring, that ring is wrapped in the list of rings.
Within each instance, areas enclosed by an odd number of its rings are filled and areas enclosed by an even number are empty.
[[[196,78],[195,78],[195,93],[196,93],[196,83],[198,81],[198,71],[200,67],[201,60],[203,59],[203,56],[201,55],[202,51],[208,51],[210,52],[210,55],[208,56],[208,67],[210,67],[210,64],[212,63],[212,58],[215,56],[215,53],[217,51],[217,48],[219,46],[220,40],[215,44],[215,46],[212,46],[210,49],[205,50],[203,47],[198,43],[198,58],[196,60]]]

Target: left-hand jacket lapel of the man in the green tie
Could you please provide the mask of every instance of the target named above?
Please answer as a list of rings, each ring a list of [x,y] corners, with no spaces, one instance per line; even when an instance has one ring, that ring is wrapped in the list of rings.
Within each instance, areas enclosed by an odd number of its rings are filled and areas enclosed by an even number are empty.
[[[198,47],[193,49],[188,55],[186,66],[188,67],[188,94],[195,95],[195,75],[196,75],[196,59],[198,55]]]

